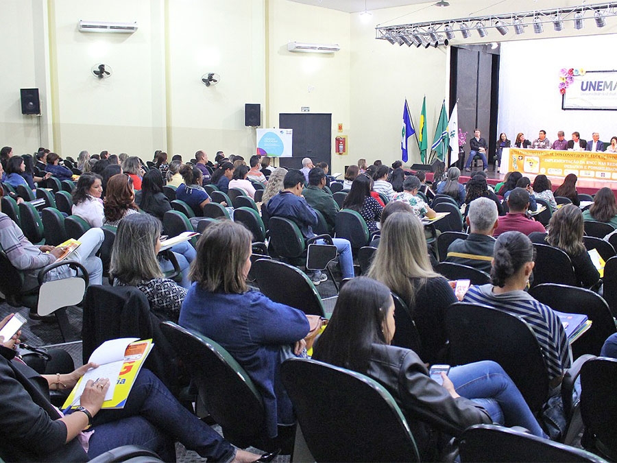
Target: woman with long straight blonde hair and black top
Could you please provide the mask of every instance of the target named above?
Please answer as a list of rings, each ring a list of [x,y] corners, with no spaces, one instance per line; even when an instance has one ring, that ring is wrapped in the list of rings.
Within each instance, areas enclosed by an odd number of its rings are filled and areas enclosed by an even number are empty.
[[[457,298],[448,280],[431,267],[418,217],[406,212],[387,217],[368,276],[398,294],[413,313],[422,359],[429,364],[445,361],[446,309]]]

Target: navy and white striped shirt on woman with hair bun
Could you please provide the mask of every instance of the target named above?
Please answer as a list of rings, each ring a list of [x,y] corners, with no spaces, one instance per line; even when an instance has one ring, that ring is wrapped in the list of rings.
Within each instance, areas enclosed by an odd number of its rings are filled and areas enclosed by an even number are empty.
[[[463,302],[489,305],[523,318],[540,344],[549,379],[561,377],[564,369],[570,367],[572,359],[566,331],[557,314],[524,291],[494,294],[492,288],[490,284],[470,287]]]

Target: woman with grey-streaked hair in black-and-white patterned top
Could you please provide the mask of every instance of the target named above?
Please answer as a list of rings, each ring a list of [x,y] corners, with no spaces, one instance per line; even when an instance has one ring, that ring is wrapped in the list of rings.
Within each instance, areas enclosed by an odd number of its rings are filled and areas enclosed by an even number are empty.
[[[157,177],[160,175],[154,171]],[[150,309],[161,320],[178,322],[186,289],[165,278],[160,262],[160,234],[162,228],[156,217],[133,214],[120,222],[111,254],[110,274],[114,286],[134,286],[145,294]],[[167,270],[173,267],[163,260]]]

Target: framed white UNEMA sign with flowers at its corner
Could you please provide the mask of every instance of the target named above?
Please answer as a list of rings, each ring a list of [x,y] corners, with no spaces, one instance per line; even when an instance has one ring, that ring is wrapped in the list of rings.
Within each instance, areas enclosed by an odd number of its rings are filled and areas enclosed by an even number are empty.
[[[561,109],[617,110],[617,71],[585,71],[573,75]]]

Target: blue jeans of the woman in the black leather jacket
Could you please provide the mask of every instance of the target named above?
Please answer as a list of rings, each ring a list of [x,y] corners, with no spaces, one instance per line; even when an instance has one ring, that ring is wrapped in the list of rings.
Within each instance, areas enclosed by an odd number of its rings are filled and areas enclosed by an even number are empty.
[[[460,396],[485,407],[496,423],[522,426],[534,436],[546,438],[520,391],[496,362],[485,360],[455,366],[448,378]]]

